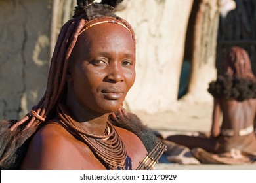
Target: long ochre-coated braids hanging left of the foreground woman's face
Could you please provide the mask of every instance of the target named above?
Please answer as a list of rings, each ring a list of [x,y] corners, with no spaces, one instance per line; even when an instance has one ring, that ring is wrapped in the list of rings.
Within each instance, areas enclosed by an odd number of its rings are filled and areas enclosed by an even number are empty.
[[[56,113],[53,112],[53,110],[56,110],[54,109],[56,108],[56,102],[59,100],[60,95],[64,94],[63,92],[65,92],[64,87],[66,83],[66,73],[68,70],[68,58],[70,58],[70,54],[74,48],[75,42],[77,41],[79,32],[85,23],[85,20],[75,18],[68,21],[62,27],[62,31],[60,31],[60,35],[58,36],[58,41],[53,53],[53,58],[51,59],[51,67],[45,95],[39,104],[32,108],[33,112],[27,114],[24,118],[19,120],[11,127],[12,131],[25,122],[27,123],[26,129],[28,129],[33,122],[40,124],[47,118],[51,118],[49,114],[53,115],[53,113]]]

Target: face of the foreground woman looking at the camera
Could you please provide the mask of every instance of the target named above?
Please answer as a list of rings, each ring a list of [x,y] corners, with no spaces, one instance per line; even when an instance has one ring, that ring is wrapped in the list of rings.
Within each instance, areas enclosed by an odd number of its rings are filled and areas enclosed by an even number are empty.
[[[83,107],[116,112],[135,82],[135,45],[129,31],[104,23],[81,33],[70,56],[68,82]]]

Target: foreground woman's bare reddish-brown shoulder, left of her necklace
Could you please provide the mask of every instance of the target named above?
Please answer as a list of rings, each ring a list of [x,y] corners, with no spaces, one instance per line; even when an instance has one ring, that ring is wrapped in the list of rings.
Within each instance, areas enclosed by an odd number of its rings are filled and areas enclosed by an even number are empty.
[[[58,121],[53,121],[35,133],[20,168],[93,169],[87,162],[90,158],[95,156],[89,147],[75,139]],[[95,158],[95,161],[98,160]]]

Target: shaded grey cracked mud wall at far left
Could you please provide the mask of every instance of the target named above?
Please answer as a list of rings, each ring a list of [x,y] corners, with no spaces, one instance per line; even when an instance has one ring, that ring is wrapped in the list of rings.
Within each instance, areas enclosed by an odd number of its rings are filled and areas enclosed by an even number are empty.
[[[51,1],[0,1],[0,118],[18,118],[45,92]]]

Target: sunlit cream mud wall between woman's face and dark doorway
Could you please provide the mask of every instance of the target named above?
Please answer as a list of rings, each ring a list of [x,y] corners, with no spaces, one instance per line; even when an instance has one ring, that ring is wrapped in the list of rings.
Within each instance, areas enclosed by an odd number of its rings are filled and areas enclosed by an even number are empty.
[[[137,78],[127,95],[129,110],[177,110],[184,43],[193,1],[127,1],[117,15],[131,22],[137,36]]]

